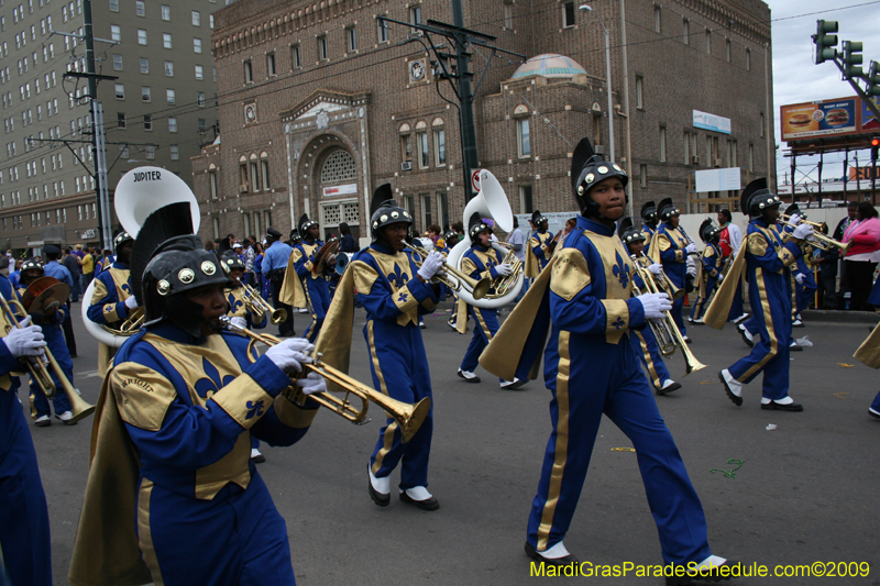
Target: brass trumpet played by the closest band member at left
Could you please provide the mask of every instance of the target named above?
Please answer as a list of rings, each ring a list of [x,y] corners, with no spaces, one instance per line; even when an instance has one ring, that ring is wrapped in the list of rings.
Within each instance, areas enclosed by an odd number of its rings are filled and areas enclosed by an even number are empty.
[[[231,319],[226,316],[220,318],[220,321],[229,331],[251,339],[248,343],[248,357],[251,362],[255,362],[254,346],[257,342],[262,342],[267,346],[274,346],[275,344],[280,343],[280,340],[273,335],[257,334],[248,330],[246,328],[239,328],[234,325]],[[364,423],[370,422],[370,420],[366,419],[366,411],[370,407],[370,402],[372,401],[378,407],[382,407],[388,417],[397,422],[403,433],[404,442],[408,442],[413,435],[416,434],[421,427],[421,423],[425,421],[425,418],[428,416],[428,411],[431,409],[431,399],[428,397],[421,399],[415,405],[398,401],[397,399],[393,399],[387,395],[375,390],[374,388],[359,383],[345,373],[323,364],[321,362],[320,354],[315,356],[314,361],[315,362],[311,364],[302,365],[302,374],[305,375],[307,371],[318,373],[327,380],[345,389],[345,396],[341,399],[331,395],[330,392],[312,392],[311,395],[306,396],[298,387],[292,386],[284,392],[286,397],[297,405],[302,405],[308,397],[317,401],[321,407],[330,409],[334,413],[342,416],[352,423],[363,425]],[[354,395],[361,399],[360,408],[355,408],[351,401],[349,401],[350,395]]]

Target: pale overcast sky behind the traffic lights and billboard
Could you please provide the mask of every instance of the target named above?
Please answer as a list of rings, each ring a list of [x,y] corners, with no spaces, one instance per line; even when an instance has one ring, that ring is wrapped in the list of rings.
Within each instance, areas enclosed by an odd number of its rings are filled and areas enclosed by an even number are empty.
[[[780,145],[777,170],[780,183],[787,177],[791,159],[782,156],[785,143],[781,141],[779,108],[788,103],[810,102],[855,96],[849,82],[840,79],[840,71],[833,63],[813,63],[813,41],[816,20],[833,20],[839,23],[838,41],[861,41],[865,45],[864,69],[871,59],[880,62],[880,1],[867,0],[765,0],[770,4],[773,32],[773,108],[776,139]],[[856,4],[856,8],[846,8]],[[842,7],[842,8],[833,8]],[[818,14],[809,14],[821,12]],[[802,14],[809,14],[803,15]],[[800,16],[800,18],[791,18]],[[840,45],[838,43],[838,49]],[[862,85],[864,87],[864,85]],[[859,153],[859,165],[869,158],[869,152]],[[864,157],[864,158],[862,158]],[[843,175],[844,154],[825,156],[822,177]],[[807,172],[816,165],[818,157],[798,157],[798,168]],[[853,154],[850,154],[853,164]],[[811,173],[815,178],[815,170]],[[803,176],[798,175],[800,183]]]

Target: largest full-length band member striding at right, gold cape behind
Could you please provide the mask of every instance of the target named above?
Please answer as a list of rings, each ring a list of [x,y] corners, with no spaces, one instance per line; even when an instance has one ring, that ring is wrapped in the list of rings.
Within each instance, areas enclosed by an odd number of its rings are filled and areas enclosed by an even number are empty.
[[[671,309],[666,294],[631,296],[634,267],[615,234],[615,221],[626,209],[628,177],[595,156],[586,139],[575,148],[571,175],[582,213],[578,228],[481,358],[499,376],[521,362],[531,363],[532,342],[543,339],[549,311],[544,382],[552,392],[553,431],[529,517],[526,552],[547,564],[578,563],[562,541],[605,413],[636,449],[666,563],[698,566],[702,573],[690,579],[723,579],[719,567],[735,563],[710,550],[700,498],[626,340],[646,320],[660,319]]]

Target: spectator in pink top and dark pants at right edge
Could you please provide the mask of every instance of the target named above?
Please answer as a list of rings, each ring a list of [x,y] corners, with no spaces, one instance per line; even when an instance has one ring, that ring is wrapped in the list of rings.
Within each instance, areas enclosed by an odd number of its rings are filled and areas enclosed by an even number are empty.
[[[847,287],[850,299],[849,309],[871,311],[868,296],[873,285],[873,270],[880,261],[880,220],[877,210],[867,201],[859,203],[856,222],[844,232],[844,242],[853,246],[844,257]]]

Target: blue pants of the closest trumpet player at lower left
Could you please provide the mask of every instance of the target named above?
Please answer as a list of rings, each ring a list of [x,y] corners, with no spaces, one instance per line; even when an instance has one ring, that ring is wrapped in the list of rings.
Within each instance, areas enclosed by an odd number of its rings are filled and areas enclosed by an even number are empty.
[[[161,576],[166,586],[296,584],[287,526],[253,464],[251,469],[246,490],[228,484],[211,500],[141,478],[135,527],[155,582]]]

